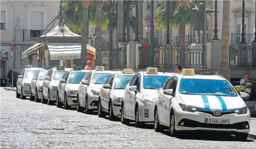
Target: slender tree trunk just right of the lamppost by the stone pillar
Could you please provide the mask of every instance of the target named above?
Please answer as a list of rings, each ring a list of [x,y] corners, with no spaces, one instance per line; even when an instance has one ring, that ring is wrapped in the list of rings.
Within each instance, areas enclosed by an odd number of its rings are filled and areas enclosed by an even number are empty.
[[[143,0],[139,0],[138,2],[138,30],[139,30],[139,40],[141,44],[143,44]]]

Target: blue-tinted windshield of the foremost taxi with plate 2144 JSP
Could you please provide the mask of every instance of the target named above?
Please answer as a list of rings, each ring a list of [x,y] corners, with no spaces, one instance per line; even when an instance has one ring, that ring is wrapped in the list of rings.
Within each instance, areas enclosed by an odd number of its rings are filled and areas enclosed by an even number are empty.
[[[181,94],[237,96],[226,80],[183,78],[179,92]]]

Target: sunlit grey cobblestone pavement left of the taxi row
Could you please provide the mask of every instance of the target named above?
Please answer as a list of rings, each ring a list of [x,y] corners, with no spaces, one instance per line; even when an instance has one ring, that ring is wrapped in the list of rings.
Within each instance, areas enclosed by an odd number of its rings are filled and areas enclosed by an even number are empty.
[[[153,125],[135,128],[121,122],[15,98],[1,88],[1,148],[252,148],[254,140],[233,136],[169,137]]]

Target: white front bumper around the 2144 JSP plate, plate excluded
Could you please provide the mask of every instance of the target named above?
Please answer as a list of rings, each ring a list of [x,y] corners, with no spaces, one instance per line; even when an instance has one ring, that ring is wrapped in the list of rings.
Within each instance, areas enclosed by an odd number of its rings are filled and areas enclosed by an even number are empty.
[[[176,130],[250,132],[250,112],[247,114],[224,114],[213,116],[204,112],[185,112],[180,107],[174,110]],[[206,124],[205,119],[229,119],[229,124]],[[183,122],[183,125],[181,125]],[[248,125],[249,128],[245,128]]]

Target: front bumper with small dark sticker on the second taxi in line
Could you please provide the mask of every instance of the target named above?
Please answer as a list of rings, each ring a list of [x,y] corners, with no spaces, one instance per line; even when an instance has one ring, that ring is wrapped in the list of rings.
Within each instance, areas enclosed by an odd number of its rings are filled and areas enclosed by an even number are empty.
[[[155,104],[138,102],[139,106],[139,121],[154,122],[154,108]]]

